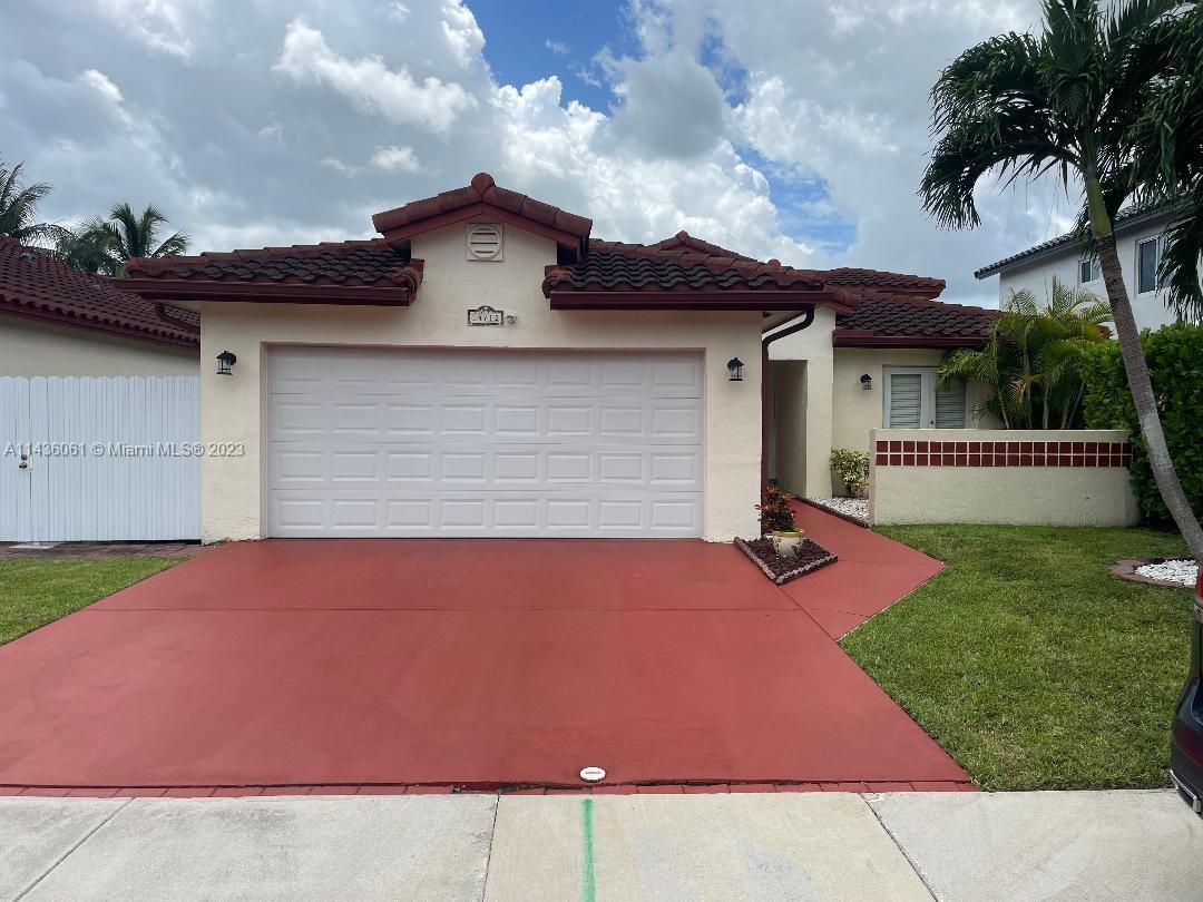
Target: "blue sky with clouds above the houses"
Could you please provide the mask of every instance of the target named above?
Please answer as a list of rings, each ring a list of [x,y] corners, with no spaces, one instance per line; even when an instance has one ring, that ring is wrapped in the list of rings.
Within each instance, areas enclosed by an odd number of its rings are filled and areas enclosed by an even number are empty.
[[[1053,186],[944,232],[915,197],[928,91],[1036,0],[40,0],[0,29],[0,159],[77,222],[154,203],[230,250],[373,235],[374,212],[499,184],[602,238],[682,229],[788,265],[946,279],[1057,235]]]

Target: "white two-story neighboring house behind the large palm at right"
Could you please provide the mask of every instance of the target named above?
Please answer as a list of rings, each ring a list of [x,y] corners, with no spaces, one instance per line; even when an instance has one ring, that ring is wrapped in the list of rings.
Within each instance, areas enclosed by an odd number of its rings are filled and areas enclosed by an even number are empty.
[[[1172,220],[1165,206],[1130,207],[1115,216],[1115,250],[1136,325],[1140,328],[1157,328],[1175,320],[1174,313],[1166,307],[1167,291],[1157,279],[1165,233]],[[1037,244],[973,274],[978,279],[997,274],[1000,298],[1012,290],[1031,289],[1037,299],[1043,299],[1051,295],[1054,278],[1071,287],[1084,287],[1107,297],[1098,259],[1084,255],[1073,235]]]

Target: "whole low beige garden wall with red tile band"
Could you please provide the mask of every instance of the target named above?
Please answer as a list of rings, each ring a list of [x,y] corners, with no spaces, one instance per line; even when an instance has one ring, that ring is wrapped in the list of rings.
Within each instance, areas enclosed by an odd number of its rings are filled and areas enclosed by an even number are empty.
[[[1120,429],[873,429],[872,523],[1132,526]]]

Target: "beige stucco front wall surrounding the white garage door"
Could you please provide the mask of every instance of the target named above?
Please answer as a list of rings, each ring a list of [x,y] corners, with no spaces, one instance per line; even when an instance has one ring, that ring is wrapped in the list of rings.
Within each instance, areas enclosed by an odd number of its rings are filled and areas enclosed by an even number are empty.
[[[506,226],[504,261],[466,260],[464,225],[413,239],[426,261],[408,309],[208,302],[202,358],[238,356],[232,378],[201,373],[206,441],[241,441],[244,457],[206,457],[201,468],[206,541],[263,534],[263,384],[273,344],[426,348],[672,349],[703,354],[705,380],[704,536],[729,541],[759,530],[760,314],[551,310],[540,285],[556,262],[552,242]],[[488,304],[517,315],[504,327],[466,325],[468,308]],[[727,361],[747,362],[742,382]]]

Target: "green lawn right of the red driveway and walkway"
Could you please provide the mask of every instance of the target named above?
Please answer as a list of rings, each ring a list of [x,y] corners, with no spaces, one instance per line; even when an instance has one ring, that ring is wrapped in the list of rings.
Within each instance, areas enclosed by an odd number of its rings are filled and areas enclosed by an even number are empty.
[[[881,532],[948,569],[843,640],[984,789],[1168,785],[1191,592],[1113,577],[1184,556],[1149,529]]]

